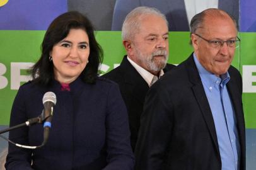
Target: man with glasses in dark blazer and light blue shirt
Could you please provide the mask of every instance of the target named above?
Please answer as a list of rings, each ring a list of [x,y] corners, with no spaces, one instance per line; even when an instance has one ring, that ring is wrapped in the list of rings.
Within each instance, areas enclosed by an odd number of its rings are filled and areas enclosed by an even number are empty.
[[[194,53],[146,96],[136,169],[245,170],[236,22],[206,9],[190,23]]]

